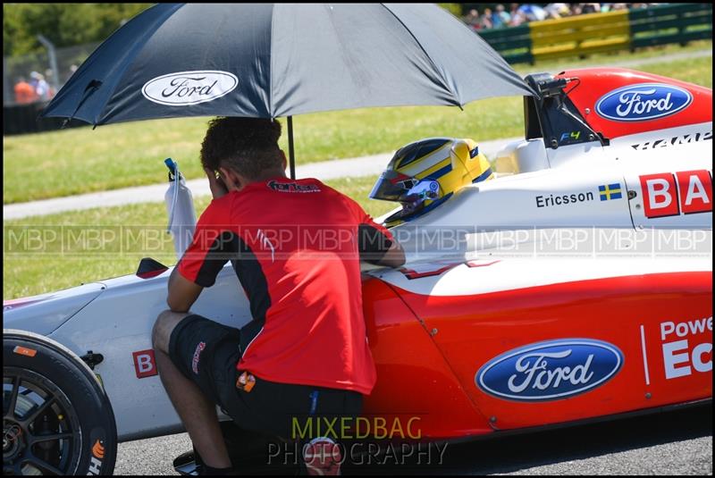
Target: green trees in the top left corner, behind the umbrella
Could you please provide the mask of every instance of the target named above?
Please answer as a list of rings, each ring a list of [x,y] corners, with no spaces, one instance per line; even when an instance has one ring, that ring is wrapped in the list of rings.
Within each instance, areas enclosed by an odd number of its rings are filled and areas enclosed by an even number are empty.
[[[38,34],[57,47],[105,40],[151,4],[3,4],[3,55],[44,50]]]

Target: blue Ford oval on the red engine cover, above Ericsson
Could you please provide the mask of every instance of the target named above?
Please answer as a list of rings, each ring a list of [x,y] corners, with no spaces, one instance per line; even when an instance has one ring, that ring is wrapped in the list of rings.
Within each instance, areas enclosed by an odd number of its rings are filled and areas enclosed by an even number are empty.
[[[693,95],[683,88],[661,83],[640,83],[614,89],[596,102],[596,112],[616,122],[643,122],[686,109]]]

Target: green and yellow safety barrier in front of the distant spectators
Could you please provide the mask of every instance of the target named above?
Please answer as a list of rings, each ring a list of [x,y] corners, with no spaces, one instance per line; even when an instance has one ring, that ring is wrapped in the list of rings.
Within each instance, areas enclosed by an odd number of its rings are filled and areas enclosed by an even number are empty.
[[[712,38],[712,4],[663,4],[635,10],[589,13],[518,27],[488,29],[479,36],[509,63],[633,50]]]

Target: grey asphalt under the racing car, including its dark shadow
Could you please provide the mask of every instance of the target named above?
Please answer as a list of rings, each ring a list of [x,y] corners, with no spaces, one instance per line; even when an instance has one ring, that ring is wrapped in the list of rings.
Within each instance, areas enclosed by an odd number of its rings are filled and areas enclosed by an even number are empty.
[[[190,448],[186,433],[122,443],[114,474],[176,474],[173,458]],[[450,444],[442,464],[432,456],[346,474],[712,474],[712,406]]]

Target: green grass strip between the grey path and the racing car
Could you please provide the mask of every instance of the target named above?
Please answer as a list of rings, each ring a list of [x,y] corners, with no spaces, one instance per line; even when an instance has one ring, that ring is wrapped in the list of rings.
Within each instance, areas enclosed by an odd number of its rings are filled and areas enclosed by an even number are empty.
[[[375,180],[373,176],[326,182],[377,216],[390,211],[394,204],[367,199]],[[197,217],[209,200],[196,199]],[[146,256],[175,264],[172,239],[164,232],[165,226],[164,203],[98,207],[5,221],[3,298],[27,297],[134,273],[139,260]],[[80,236],[82,233],[85,236]],[[91,236],[94,233],[97,238]],[[83,246],[78,247],[80,244]]]

